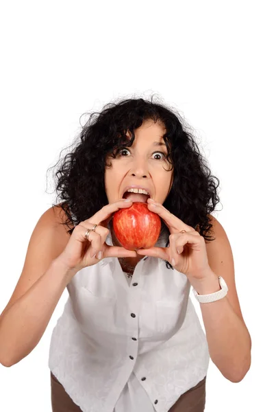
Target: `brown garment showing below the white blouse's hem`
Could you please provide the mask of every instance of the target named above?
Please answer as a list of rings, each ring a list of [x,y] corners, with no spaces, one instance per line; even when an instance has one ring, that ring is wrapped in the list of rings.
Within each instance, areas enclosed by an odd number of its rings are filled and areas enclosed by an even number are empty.
[[[185,393],[169,409],[169,412],[203,412],[206,406],[206,376]],[[51,407],[53,412],[82,412],[59,380],[51,372]],[[130,411],[129,411],[130,412]]]

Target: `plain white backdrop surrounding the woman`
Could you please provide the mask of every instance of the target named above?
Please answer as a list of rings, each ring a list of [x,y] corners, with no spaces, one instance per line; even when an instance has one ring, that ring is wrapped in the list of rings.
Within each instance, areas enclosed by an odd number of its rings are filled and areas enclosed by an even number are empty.
[[[195,128],[221,180],[214,216],[232,245],[252,365],[232,383],[210,362],[206,412],[269,411],[273,393],[272,1],[8,1],[1,5],[0,310],[55,200],[47,169],[79,117],[156,93]],[[49,341],[65,290],[27,358],[0,365],[1,405],[51,411]],[[201,320],[199,304],[195,307]]]

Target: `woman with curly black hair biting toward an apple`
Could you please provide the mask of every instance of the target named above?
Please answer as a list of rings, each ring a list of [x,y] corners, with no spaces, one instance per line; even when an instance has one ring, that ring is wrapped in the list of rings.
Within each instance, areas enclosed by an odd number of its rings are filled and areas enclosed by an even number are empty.
[[[232,251],[210,214],[218,185],[162,104],[110,104],[80,137],[56,173],[62,202],[38,220],[1,314],[1,363],[34,349],[67,288],[49,352],[53,412],[201,412],[210,357],[232,382],[251,362]],[[128,251],[112,217],[136,201],[162,229],[154,247]]]

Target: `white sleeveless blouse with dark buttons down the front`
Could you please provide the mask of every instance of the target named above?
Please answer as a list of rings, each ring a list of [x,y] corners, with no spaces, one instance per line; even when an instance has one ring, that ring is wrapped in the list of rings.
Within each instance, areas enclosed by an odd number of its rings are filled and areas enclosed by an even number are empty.
[[[161,232],[156,246],[164,247]],[[112,244],[111,234],[106,240]],[[167,412],[208,371],[206,335],[183,273],[145,257],[132,279],[118,258],[78,271],[49,369],[83,412]]]

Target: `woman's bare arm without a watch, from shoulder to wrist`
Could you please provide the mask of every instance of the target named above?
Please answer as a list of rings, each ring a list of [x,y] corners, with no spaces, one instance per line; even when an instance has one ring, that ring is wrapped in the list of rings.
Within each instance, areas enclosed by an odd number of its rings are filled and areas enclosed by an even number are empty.
[[[49,208],[29,240],[23,271],[0,316],[0,363],[12,366],[32,352],[73,277],[58,256],[69,241],[62,209]],[[16,245],[12,245],[16,248]]]

